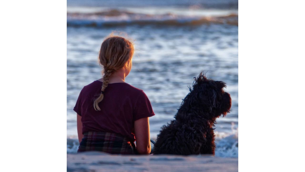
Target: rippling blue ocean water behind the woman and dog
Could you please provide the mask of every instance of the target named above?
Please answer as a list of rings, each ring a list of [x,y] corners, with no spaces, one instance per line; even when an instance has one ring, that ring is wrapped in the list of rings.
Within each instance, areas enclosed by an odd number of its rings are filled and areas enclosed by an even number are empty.
[[[227,84],[231,113],[217,119],[215,156],[238,157],[238,1],[67,1],[67,153],[78,147],[81,89],[102,77],[99,48],[111,32],[127,36],[135,54],[126,82],[142,89],[155,116],[151,138],[173,120],[201,71]],[[123,33],[121,33],[123,32]]]

